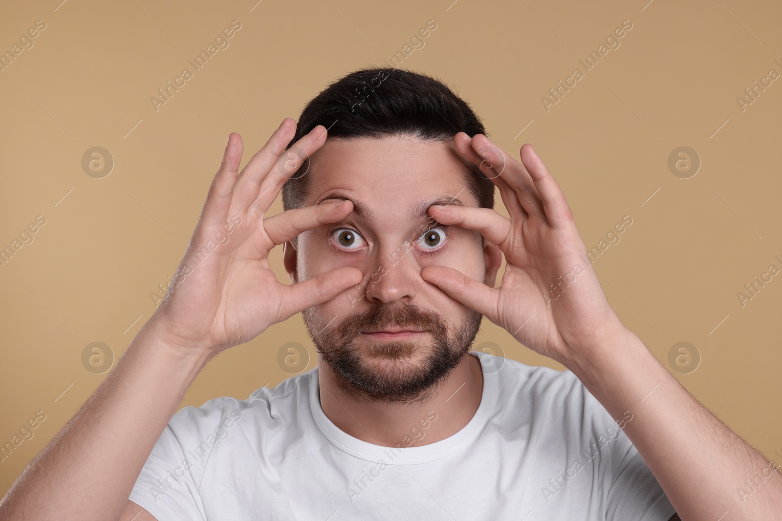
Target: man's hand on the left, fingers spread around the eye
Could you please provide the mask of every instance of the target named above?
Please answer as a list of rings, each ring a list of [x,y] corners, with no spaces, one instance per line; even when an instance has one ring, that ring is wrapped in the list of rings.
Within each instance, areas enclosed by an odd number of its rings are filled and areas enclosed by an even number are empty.
[[[152,319],[167,344],[216,355],[361,282],[360,270],[343,267],[289,286],[269,266],[275,245],[353,210],[345,201],[264,218],[285,181],[326,140],[325,127],[318,125],[283,155],[295,132],[296,122],[283,120],[239,176],[242,137],[229,135],[188,250]]]

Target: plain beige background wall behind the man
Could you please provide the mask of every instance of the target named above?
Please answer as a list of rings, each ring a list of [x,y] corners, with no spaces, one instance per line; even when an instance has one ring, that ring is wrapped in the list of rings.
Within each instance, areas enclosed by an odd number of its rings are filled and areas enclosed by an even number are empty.
[[[677,378],[780,460],[782,276],[743,308],[737,292],[782,268],[782,80],[744,112],[737,96],[782,73],[782,5],[451,1],[6,2],[0,51],[36,20],[46,29],[0,72],[0,248],[36,216],[46,224],[0,267],[0,444],[36,412],[46,419],[0,462],[0,492],[106,376],[84,368],[84,347],[104,342],[118,358],[154,312],[150,293],[185,252],[228,133],[244,138],[243,166],[285,116],[351,70],[383,65],[427,20],[436,30],[402,66],[454,87],[515,157],[535,145],[587,247],[633,219],[594,263],[608,300],[666,367],[674,344],[694,344],[700,365]],[[231,20],[242,29],[230,46],[156,112],[149,98]],[[541,97],[623,20],[633,29],[620,47],[547,112]],[[94,146],[115,162],[102,179],[81,167]],[[689,179],[669,171],[680,146],[701,158]],[[182,405],[278,384],[291,341],[313,367],[295,316],[214,359]],[[562,369],[491,323],[482,342]]]

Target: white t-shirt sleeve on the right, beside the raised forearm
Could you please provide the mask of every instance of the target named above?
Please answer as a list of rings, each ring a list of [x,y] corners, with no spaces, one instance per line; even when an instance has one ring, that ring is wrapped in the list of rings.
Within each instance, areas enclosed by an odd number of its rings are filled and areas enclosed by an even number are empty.
[[[633,421],[633,413],[627,411],[614,420],[586,387],[583,392],[585,412],[592,420],[590,436],[608,448],[601,451],[600,466],[606,521],[668,521],[676,509],[633,442],[620,429]]]

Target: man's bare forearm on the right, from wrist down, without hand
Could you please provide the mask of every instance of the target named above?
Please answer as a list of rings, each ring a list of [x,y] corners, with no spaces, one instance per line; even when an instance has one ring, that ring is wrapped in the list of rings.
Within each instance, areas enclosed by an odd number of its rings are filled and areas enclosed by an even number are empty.
[[[622,328],[597,355],[569,369],[612,417],[633,414],[623,430],[683,521],[775,519],[782,512],[782,475],[693,398],[630,330]],[[745,480],[753,479],[751,488]]]

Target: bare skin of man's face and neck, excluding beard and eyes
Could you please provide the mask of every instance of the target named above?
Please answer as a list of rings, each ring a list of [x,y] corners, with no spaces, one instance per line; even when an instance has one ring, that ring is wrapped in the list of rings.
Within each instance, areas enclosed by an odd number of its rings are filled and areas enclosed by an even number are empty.
[[[348,200],[346,204],[358,202],[370,213],[361,216],[351,212],[335,224],[354,230],[361,237],[350,249],[334,240],[334,226],[307,231],[285,244],[285,269],[294,284],[339,266],[354,267],[364,275],[364,284],[358,290],[314,306],[311,311],[315,321],[310,331],[317,332],[327,324],[335,327],[344,319],[339,317],[375,305],[414,303],[439,313],[454,327],[466,321],[472,310],[427,284],[421,278],[421,269],[450,266],[493,287],[501,262],[499,248],[493,244],[484,248],[480,234],[461,227],[449,227],[450,237],[436,248],[425,249],[420,244],[404,248],[406,241],[415,243],[424,231],[439,227],[426,213],[414,216],[414,205],[442,198],[450,205],[478,206],[461,173],[464,162],[450,143],[422,142],[410,137],[338,139],[327,141],[318,150],[311,162],[311,169],[317,174],[310,181],[306,205],[335,205]],[[378,180],[382,180],[380,184]],[[432,341],[429,332],[386,334],[389,338],[383,339],[377,336],[361,335],[356,341],[364,361],[375,372],[389,374],[404,373],[419,365]],[[412,356],[389,361],[368,355],[369,344],[400,337],[414,344]],[[420,441],[408,445],[408,440],[404,446],[429,444],[456,433],[474,416],[483,387],[480,363],[472,356],[447,376],[431,398],[403,405],[368,404],[338,387],[335,374],[322,360],[318,371],[321,407],[326,416],[346,433],[388,447],[409,437],[411,426],[432,410],[437,412],[438,421],[432,423]],[[460,399],[450,400],[451,395]]]

